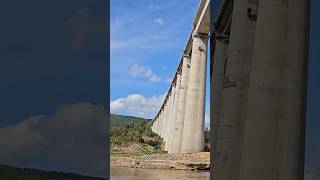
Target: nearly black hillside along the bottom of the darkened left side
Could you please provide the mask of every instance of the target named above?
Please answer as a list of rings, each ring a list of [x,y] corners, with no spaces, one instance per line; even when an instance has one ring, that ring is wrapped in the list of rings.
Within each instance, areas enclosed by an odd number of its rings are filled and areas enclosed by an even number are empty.
[[[82,176],[74,173],[63,173],[56,171],[42,171],[27,168],[18,168],[12,166],[0,165],[0,179],[4,180],[104,180],[103,178],[95,178]]]

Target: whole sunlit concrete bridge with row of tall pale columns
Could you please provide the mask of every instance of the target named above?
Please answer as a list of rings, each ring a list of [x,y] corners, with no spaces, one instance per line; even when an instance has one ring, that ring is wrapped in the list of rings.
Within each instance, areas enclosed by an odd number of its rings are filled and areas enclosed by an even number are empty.
[[[201,0],[192,31],[152,130],[168,153],[203,151],[210,0]]]

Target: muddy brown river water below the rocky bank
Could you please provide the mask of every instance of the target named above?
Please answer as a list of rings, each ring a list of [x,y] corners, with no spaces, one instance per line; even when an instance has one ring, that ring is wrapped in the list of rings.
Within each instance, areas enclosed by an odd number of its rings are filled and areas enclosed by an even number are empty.
[[[209,180],[209,171],[110,168],[111,180]]]

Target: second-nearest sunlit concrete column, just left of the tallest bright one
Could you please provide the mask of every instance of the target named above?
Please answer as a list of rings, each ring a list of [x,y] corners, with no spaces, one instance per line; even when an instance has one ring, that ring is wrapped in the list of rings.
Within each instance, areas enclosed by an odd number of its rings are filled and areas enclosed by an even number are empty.
[[[185,115],[185,104],[189,80],[189,71],[190,71],[190,56],[185,55],[182,62],[182,72],[181,72],[181,84],[179,97],[177,99],[177,118],[173,128],[173,137],[172,137],[172,153],[181,152],[181,141],[183,133],[183,122]]]

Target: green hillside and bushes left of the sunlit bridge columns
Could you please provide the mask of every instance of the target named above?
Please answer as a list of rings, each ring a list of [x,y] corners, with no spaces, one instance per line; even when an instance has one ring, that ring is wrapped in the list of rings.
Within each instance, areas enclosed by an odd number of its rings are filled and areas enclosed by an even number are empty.
[[[150,128],[150,120],[111,115],[110,122],[111,155],[140,156],[166,153],[161,150],[162,139]]]

